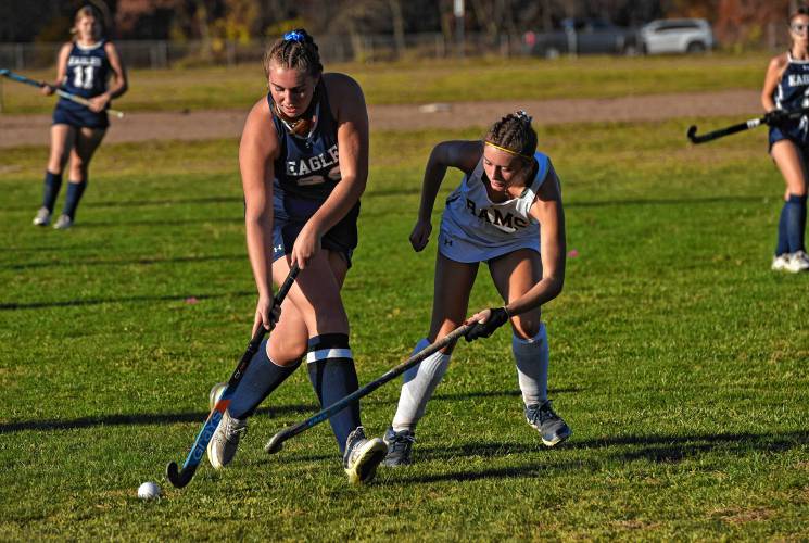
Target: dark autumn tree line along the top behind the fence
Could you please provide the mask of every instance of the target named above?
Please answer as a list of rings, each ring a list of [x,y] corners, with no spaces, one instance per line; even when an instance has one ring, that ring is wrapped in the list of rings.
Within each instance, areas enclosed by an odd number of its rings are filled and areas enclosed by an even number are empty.
[[[520,35],[558,27],[571,16],[601,16],[637,26],[653,18],[710,21],[724,45],[774,45],[796,0],[3,0],[0,41],[61,41],[86,3],[103,13],[116,39],[229,40],[273,38],[295,27],[313,35],[465,33]],[[783,34],[783,33],[782,33]]]

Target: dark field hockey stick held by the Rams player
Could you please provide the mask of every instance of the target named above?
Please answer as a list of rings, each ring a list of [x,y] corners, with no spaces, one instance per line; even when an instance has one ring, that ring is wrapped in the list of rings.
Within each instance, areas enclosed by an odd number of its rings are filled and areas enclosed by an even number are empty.
[[[452,332],[450,332],[447,336],[444,336],[439,341],[426,346],[418,353],[414,354],[409,358],[407,358],[405,362],[400,364],[399,366],[390,369],[387,374],[384,374],[382,377],[377,379],[376,381],[371,381],[362,389],[357,389],[347,396],[343,397],[342,400],[338,400],[333,404],[329,405],[325,409],[320,411],[319,413],[311,416],[306,420],[303,420],[301,422],[298,422],[295,426],[291,426],[285,430],[279,431],[270,440],[267,442],[266,445],[264,445],[264,451],[266,451],[269,454],[275,454],[278,451],[281,450],[283,446],[283,442],[287,441],[290,438],[294,438],[299,433],[305,432],[313,426],[319,425],[324,420],[330,418],[332,415],[336,415],[343,411],[345,407],[347,407],[350,404],[357,402],[361,397],[366,396],[377,390],[379,387],[384,384],[385,382],[390,381],[391,379],[402,375],[407,369],[412,368],[419,362],[424,361],[431,354],[444,349],[445,346],[456,342],[458,339],[460,339],[462,336],[464,336],[469,329],[472,327],[472,325],[464,325],[459,328],[456,328]]]

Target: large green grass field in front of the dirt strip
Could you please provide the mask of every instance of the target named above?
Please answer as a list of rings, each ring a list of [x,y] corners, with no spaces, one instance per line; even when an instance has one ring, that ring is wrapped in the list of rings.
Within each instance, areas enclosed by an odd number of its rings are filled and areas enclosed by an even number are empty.
[[[540,131],[578,251],[545,308],[572,439],[547,450],[526,425],[502,330],[459,344],[417,464],[366,488],[347,484],[327,425],[263,452],[317,409],[304,371],[251,420],[230,469],[205,460],[182,491],[163,479],[249,340],[236,141],[104,144],[68,231],[30,226],[47,150],[3,149],[2,539],[809,538],[809,275],[769,270],[783,181],[763,130],[690,147],[692,121]],[[361,382],[428,326],[435,244],[413,253],[407,235],[429,149],[480,134],[372,135],[344,288]],[[472,308],[495,303],[483,268]],[[396,397],[391,383],[363,402],[370,433]],[[147,480],[159,502],[136,497]]]

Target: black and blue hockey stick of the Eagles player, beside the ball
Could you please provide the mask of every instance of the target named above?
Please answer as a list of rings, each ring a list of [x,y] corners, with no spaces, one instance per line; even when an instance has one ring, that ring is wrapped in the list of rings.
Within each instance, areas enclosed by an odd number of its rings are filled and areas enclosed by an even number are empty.
[[[283,285],[281,285],[281,288],[278,289],[278,292],[276,292],[276,295],[273,299],[273,307],[270,308],[270,312],[275,307],[281,305],[281,302],[283,302],[283,299],[287,296],[289,289],[292,287],[292,283],[298,276],[298,264],[293,264],[292,268],[289,270],[287,279],[283,281]],[[239,386],[239,381],[241,381],[242,377],[244,377],[244,371],[247,371],[248,366],[250,365],[250,361],[253,359],[253,355],[256,353],[256,351],[258,351],[266,331],[267,329],[264,328],[264,326],[260,326],[258,330],[255,332],[255,336],[253,336],[253,339],[250,340],[247,351],[244,351],[244,354],[239,361],[239,365],[236,366],[233,374],[230,376],[230,380],[228,381],[228,386],[225,389],[225,392],[223,392],[222,396],[216,402],[216,405],[214,405],[214,408],[211,409],[211,414],[207,416],[205,424],[202,425],[202,430],[200,430],[200,433],[197,434],[197,439],[194,440],[193,446],[191,447],[191,452],[188,453],[188,457],[186,457],[186,462],[182,464],[182,469],[177,468],[176,462],[169,462],[166,466],[166,478],[176,488],[181,489],[182,487],[191,482],[194,471],[197,471],[198,466],[202,462],[202,457],[205,455],[207,444],[211,442],[211,438],[214,437],[216,427],[219,426],[219,421],[225,415],[225,409],[227,409],[228,405],[230,405],[230,399],[236,392],[236,388]]]

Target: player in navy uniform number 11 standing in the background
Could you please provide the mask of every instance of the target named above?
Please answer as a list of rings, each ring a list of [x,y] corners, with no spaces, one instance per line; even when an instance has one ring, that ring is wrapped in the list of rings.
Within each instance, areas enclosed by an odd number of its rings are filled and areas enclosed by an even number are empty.
[[[62,186],[62,173],[69,159],[67,194],[62,214],[53,225],[59,229],[69,228],[76,218],[76,207],[88,182],[90,160],[110,125],[105,109],[113,98],[127,89],[118,52],[111,41],[102,38],[101,14],[91,5],[81,8],[76,13],[72,31],[73,41],[59,51],[56,83],[42,87],[42,92],[52,94],[56,88],[62,88],[89,99],[91,105],[88,108],[64,98],[56,102],[42,206],[34,218],[35,225],[50,224]]]

